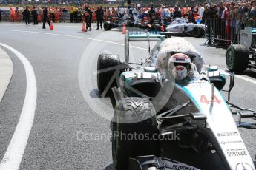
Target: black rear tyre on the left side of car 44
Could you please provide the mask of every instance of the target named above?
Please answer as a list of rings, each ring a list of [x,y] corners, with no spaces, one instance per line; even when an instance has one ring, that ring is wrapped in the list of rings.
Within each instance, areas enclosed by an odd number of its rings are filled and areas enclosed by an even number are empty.
[[[119,55],[114,55],[114,54],[99,55],[98,63],[97,63],[97,71],[98,71],[97,84],[98,84],[98,89],[101,92],[104,92],[104,90],[107,90],[107,94],[108,94],[108,92],[111,92],[111,88],[116,86],[116,78],[114,78],[114,81],[112,82],[111,86],[108,89],[106,89],[106,87],[108,86],[108,83],[111,81],[111,78],[113,76],[119,76],[119,67],[117,67],[119,65],[120,65]],[[108,70],[108,68],[110,68],[111,70]]]

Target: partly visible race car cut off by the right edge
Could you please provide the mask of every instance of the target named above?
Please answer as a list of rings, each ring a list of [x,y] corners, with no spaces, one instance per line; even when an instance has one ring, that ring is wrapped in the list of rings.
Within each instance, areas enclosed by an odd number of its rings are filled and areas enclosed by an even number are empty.
[[[240,30],[240,44],[232,44],[226,51],[226,66],[232,72],[256,69],[256,30],[245,27]]]

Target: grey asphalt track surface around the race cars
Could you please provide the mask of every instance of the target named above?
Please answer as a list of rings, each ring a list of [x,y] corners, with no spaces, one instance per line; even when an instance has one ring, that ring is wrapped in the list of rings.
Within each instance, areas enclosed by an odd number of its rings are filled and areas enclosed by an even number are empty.
[[[39,26],[0,24],[0,42],[22,52],[30,61],[36,74],[38,88],[33,127],[19,169],[112,169],[111,142],[108,137],[104,140],[77,139],[78,132],[111,134],[110,121],[95,112],[94,106],[102,107],[103,104],[111,106],[109,98],[99,98],[96,89],[96,60],[102,51],[119,54],[121,60],[124,60],[122,34],[119,31],[95,30],[95,25],[93,26],[93,31],[81,33],[80,24],[54,24],[53,31],[42,30],[42,24]],[[95,41],[92,40],[93,38],[104,41]],[[186,40],[194,44],[207,64],[216,64],[221,69],[226,68],[226,50],[207,47],[203,44],[205,39],[186,38]],[[114,41],[117,44],[106,41]],[[137,42],[132,45],[147,48],[146,43]],[[132,60],[140,61],[147,51],[134,47],[131,48],[131,53],[134,54]],[[6,51],[13,60],[13,78],[0,103],[1,158],[19,120],[26,87],[22,63],[12,52]],[[87,89],[87,93],[81,92],[78,80],[79,65],[83,64],[85,68],[82,68],[82,73],[85,74],[85,79],[90,78],[86,83],[91,82],[88,84],[90,89]],[[248,71],[246,74],[247,78],[255,80],[255,72]],[[256,110],[255,87],[256,84],[237,78],[232,91],[232,102]],[[92,101],[95,105],[90,106],[88,101]],[[108,111],[106,115],[112,114],[108,109],[106,110]],[[256,131],[240,129],[240,133],[255,161]],[[212,164],[220,165],[216,159]]]

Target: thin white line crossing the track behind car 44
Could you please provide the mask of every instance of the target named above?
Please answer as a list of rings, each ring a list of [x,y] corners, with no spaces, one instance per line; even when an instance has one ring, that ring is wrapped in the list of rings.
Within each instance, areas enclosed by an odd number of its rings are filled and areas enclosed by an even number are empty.
[[[23,30],[6,30],[6,29],[1,29],[0,31],[13,31],[13,32],[21,32],[21,33],[38,33],[38,34],[45,34],[45,35],[59,35],[59,36],[65,36],[65,37],[70,37],[70,38],[82,38],[82,39],[87,39],[87,40],[92,40],[92,41],[100,41],[100,42],[105,42],[108,44],[116,44],[116,45],[122,45],[124,46],[125,44],[121,43],[116,43],[113,41],[105,41],[105,40],[100,40],[96,38],[86,38],[86,37],[80,37],[80,36],[74,36],[74,35],[64,35],[64,34],[54,34],[54,33],[42,33],[42,32],[36,32],[36,31],[23,31]],[[131,46],[133,48],[139,49],[139,50],[145,50],[148,51],[148,49],[142,48],[142,47],[136,47],[136,46]],[[252,84],[256,84],[256,81],[252,80],[251,78],[246,78],[243,75],[235,75],[237,78],[243,79],[244,81],[249,81]]]

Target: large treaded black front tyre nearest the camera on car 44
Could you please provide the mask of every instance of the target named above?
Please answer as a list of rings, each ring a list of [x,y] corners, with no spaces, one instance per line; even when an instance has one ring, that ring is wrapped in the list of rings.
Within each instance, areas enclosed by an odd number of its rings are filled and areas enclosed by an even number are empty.
[[[146,98],[122,98],[112,123],[112,158],[117,170],[128,169],[129,157],[158,155],[157,119]]]

